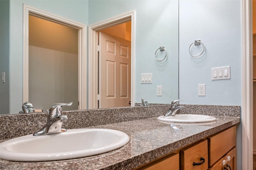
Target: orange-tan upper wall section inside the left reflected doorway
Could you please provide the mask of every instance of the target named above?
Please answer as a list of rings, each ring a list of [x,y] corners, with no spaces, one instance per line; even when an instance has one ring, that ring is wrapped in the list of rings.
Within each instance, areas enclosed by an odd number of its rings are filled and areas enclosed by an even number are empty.
[[[29,45],[78,54],[78,30],[29,16]]]

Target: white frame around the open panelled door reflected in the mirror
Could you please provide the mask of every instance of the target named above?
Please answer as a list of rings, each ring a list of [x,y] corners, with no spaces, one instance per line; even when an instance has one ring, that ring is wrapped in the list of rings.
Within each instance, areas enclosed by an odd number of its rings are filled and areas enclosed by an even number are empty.
[[[135,10],[88,26],[88,109],[98,108],[98,32],[127,21],[132,22],[131,39],[131,106],[135,104]]]

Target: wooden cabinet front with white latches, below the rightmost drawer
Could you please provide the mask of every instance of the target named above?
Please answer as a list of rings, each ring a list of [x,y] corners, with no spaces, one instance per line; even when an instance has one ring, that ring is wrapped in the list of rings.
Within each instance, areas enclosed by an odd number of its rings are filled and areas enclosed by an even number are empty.
[[[223,160],[227,160],[228,156],[230,156],[230,161],[226,162],[223,166]],[[223,156],[220,160],[218,160],[214,165],[210,166],[208,170],[221,170],[227,165],[231,168],[231,170],[236,170],[236,147],[230,150],[225,156]],[[230,169],[228,168],[228,169]]]

